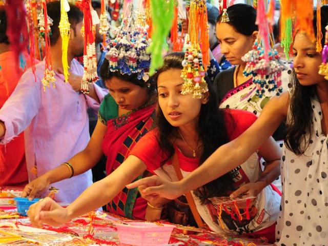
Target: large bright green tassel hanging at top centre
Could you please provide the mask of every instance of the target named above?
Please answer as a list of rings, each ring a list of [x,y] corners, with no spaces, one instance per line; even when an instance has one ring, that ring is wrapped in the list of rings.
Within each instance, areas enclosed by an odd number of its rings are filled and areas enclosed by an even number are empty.
[[[151,53],[150,75],[163,65],[162,49],[166,44],[173,20],[173,0],[151,0],[152,43],[147,49]]]

